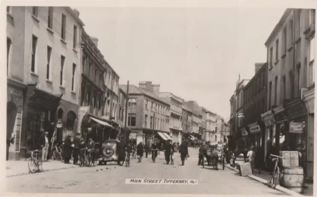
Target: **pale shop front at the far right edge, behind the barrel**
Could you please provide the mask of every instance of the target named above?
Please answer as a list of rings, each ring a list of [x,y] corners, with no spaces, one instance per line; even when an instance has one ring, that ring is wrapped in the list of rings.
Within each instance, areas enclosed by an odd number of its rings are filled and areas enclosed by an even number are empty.
[[[303,95],[307,108],[306,122],[306,180],[314,180],[314,127],[315,127],[315,88]]]

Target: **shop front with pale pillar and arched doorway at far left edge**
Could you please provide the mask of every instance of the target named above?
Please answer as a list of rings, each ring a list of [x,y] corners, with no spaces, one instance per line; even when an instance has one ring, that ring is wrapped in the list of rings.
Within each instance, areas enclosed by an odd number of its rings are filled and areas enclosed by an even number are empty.
[[[6,150],[8,160],[19,160],[20,158],[24,88],[25,85],[23,83],[8,78],[6,98],[6,140],[10,141],[11,139],[10,146],[7,147]]]

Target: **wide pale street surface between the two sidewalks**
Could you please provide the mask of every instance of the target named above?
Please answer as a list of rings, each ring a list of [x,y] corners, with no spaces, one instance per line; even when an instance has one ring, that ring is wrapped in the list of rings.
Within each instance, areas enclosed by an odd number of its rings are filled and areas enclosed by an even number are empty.
[[[6,178],[7,192],[283,195],[228,168],[203,169],[197,165],[198,150],[191,149],[190,153],[185,166],[180,166],[178,153],[174,166],[166,165],[161,152],[156,163],[150,158],[142,163],[132,159],[128,168],[103,165],[10,177]],[[125,184],[126,178],[197,179],[198,185],[133,185]]]

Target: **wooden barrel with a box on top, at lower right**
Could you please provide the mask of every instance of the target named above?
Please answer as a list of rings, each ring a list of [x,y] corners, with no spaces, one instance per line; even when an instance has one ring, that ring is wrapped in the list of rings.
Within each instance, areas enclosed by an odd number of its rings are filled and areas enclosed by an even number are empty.
[[[279,184],[284,188],[301,193],[303,192],[304,180],[302,167],[284,167],[280,172]]]

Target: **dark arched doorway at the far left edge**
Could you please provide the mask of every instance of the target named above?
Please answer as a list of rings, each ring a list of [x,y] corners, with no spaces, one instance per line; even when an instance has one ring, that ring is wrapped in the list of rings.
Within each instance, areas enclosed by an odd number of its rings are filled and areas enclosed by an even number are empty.
[[[12,133],[14,132],[14,126],[16,121],[17,108],[14,102],[9,101],[6,103],[6,140],[10,140]],[[9,156],[9,146],[11,144],[7,141],[6,147],[6,160]]]

